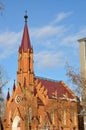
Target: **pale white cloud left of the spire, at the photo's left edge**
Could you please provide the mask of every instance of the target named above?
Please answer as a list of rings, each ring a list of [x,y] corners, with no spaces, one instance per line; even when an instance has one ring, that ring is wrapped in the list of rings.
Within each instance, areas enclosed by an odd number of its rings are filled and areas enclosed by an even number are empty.
[[[0,59],[6,58],[15,52],[18,42],[21,39],[21,32],[6,31],[0,34]]]

